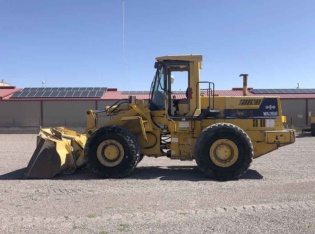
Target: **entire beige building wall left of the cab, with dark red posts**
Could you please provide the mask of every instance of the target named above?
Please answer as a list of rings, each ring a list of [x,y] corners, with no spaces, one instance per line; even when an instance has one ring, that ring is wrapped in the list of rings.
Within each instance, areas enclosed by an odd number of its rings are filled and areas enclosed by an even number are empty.
[[[85,111],[104,109],[117,100],[17,100],[0,101],[0,126],[85,126]],[[43,102],[43,120],[41,119]],[[147,101],[145,101],[147,103]],[[97,105],[97,106],[96,106]],[[99,120],[102,124],[110,117]]]

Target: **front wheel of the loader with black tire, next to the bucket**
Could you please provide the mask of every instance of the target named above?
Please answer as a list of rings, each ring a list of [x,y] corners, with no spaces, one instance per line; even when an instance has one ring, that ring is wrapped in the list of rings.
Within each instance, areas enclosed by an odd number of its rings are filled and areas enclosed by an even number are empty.
[[[106,159],[105,155],[103,155],[105,160],[101,162],[97,156],[99,146],[107,141],[117,143],[117,146],[111,149],[111,152],[113,149],[114,152],[119,152],[117,155],[119,160],[117,159],[116,162],[115,159]],[[106,146],[104,147],[106,149]],[[140,146],[137,137],[129,129],[118,125],[107,125],[97,129],[88,138],[84,148],[86,165],[92,172],[103,178],[122,178],[128,175],[135,169],[139,157]]]

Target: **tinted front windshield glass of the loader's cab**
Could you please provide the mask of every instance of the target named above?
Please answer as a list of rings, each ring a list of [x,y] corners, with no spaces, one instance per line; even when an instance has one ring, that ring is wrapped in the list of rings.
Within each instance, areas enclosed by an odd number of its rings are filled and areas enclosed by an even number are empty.
[[[150,110],[164,110],[164,68],[159,66],[154,77]]]

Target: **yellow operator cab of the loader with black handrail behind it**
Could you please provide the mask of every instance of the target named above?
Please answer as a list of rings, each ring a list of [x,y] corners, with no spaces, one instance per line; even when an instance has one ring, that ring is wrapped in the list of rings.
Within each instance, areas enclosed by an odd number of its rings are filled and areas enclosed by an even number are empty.
[[[199,69],[202,67],[202,55],[174,55],[156,58],[154,64],[156,73],[151,85],[150,110],[164,110],[166,117],[172,120],[178,118],[204,119],[216,116],[220,110],[214,109],[214,83],[200,81]],[[174,73],[184,74],[184,79],[176,80],[176,84],[181,83],[181,90],[175,91],[173,85]],[[207,106],[201,108],[200,83],[206,83],[209,88]],[[210,86],[212,85],[212,88]],[[178,86],[177,86],[178,87]],[[178,88],[177,88],[178,90]],[[211,102],[210,103],[210,97]],[[161,112],[157,113],[160,115]]]

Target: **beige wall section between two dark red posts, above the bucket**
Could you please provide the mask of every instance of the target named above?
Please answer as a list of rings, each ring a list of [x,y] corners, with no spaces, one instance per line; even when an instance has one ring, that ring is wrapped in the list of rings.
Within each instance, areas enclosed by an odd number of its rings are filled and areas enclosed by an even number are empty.
[[[85,111],[94,100],[43,100],[43,126],[85,126]]]

